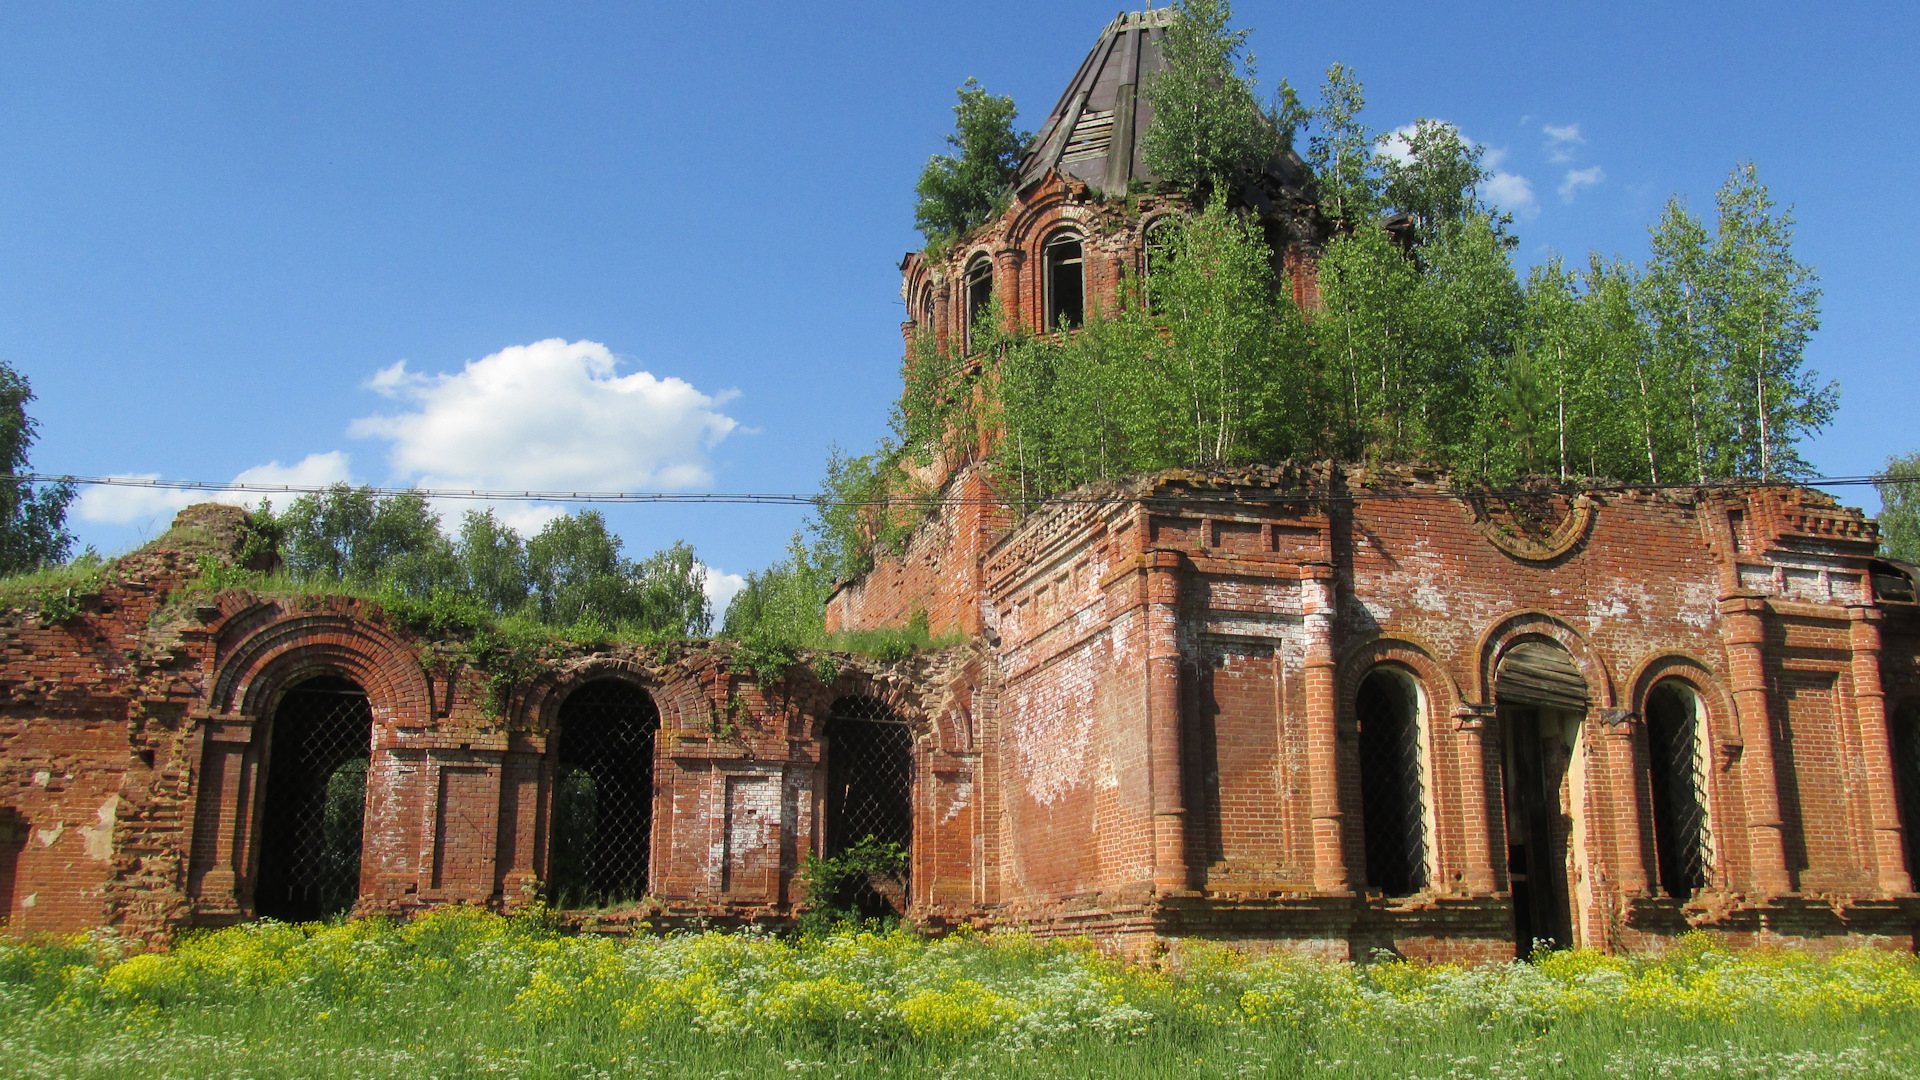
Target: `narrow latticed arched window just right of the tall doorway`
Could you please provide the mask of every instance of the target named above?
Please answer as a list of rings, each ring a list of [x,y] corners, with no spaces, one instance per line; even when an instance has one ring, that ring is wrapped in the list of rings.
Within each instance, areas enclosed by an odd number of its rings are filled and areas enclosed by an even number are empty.
[[[1647,694],[1645,717],[1653,853],[1661,869],[1661,890],[1674,899],[1688,899],[1707,888],[1713,865],[1699,698],[1684,682],[1661,682]]]

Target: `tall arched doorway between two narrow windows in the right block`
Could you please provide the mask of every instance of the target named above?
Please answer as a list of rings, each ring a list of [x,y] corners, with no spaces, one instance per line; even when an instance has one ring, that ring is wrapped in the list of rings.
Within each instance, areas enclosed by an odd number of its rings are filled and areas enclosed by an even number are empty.
[[[1586,678],[1559,644],[1528,640],[1500,657],[1494,701],[1501,728],[1507,880],[1513,944],[1569,947],[1572,940],[1572,763],[1586,719]]]

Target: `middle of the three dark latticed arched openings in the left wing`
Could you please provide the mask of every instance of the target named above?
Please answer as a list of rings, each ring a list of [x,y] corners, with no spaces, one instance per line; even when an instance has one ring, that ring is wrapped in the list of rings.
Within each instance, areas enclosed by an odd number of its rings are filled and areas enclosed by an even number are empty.
[[[660,711],[620,678],[561,701],[553,774],[549,896],[555,907],[611,907],[647,894],[653,744]]]

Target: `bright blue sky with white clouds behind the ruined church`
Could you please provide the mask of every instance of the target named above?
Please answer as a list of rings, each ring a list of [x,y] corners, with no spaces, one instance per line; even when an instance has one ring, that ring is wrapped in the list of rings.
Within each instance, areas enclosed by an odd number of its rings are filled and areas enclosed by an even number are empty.
[[[912,183],[1112,4],[8,4],[0,357],[81,475],[808,492],[899,390]],[[1826,288],[1830,475],[1920,446],[1920,6],[1244,2],[1260,77],[1459,125],[1521,258],[1642,258],[1751,158]],[[1530,194],[1530,198],[1523,198]],[[1872,505],[1870,492],[1843,498]],[[90,496],[113,552],[171,507]],[[618,507],[726,573],[797,509]]]

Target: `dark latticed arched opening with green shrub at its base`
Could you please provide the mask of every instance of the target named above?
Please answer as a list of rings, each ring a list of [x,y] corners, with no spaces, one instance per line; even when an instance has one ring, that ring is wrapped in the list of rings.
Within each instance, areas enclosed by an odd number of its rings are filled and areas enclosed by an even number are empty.
[[[826,853],[874,840],[914,846],[914,732],[872,698],[841,698],[828,719]],[[847,882],[835,905],[862,917],[902,915],[908,876]]]

